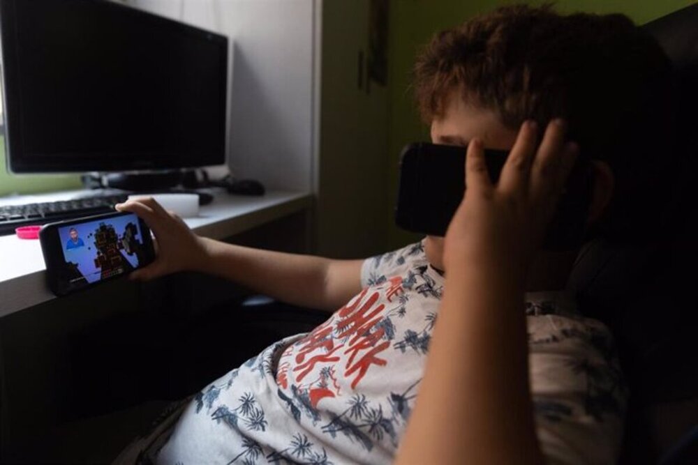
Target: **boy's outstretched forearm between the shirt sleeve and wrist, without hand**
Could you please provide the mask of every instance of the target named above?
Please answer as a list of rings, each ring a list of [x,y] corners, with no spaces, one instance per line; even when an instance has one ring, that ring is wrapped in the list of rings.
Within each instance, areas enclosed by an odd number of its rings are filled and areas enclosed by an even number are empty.
[[[361,288],[359,260],[259,250],[201,239],[193,268],[224,277],[286,303],[334,311]]]

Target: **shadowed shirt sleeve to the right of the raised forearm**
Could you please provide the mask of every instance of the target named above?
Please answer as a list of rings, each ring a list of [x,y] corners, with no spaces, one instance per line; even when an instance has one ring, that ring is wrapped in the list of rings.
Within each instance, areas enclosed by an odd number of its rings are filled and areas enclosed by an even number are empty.
[[[537,437],[549,464],[615,464],[627,389],[600,322],[528,317]]]

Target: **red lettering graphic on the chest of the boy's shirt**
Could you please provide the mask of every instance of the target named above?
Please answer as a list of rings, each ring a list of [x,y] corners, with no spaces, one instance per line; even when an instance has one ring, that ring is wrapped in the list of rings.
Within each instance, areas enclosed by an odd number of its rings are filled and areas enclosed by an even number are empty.
[[[385,318],[385,305],[378,303],[380,291],[385,291],[387,300],[391,301],[403,292],[402,279],[391,278],[387,287],[379,288],[371,294],[369,289],[364,289],[359,296],[341,307],[331,321],[318,326],[295,344],[296,365],[291,369],[296,376],[295,381],[300,383],[316,369],[321,369],[318,379],[299,386],[299,389],[308,392],[313,406],[317,406],[325,397],[339,395],[340,385],[335,373],[344,379],[351,379],[350,386],[355,389],[372,366],[387,365],[387,360],[378,356],[390,346],[389,341],[381,342],[385,337],[385,328],[378,326]],[[343,366],[338,366],[337,363],[342,360],[341,355],[348,358]],[[277,382],[284,388],[288,386],[289,369],[287,363],[279,366]]]

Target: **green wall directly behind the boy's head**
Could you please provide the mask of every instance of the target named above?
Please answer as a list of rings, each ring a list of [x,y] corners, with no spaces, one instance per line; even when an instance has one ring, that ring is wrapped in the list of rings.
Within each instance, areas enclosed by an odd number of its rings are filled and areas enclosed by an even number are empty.
[[[410,72],[420,45],[432,34],[463,22],[477,13],[514,1],[491,0],[392,0],[389,24],[389,127],[388,195],[390,206],[388,245],[396,248],[417,236],[406,234],[394,226],[393,206],[397,191],[397,166],[401,148],[408,142],[429,140],[429,131],[420,122],[409,89]],[[530,1],[540,4],[541,1]],[[636,24],[644,24],[672,11],[688,6],[690,0],[558,0],[560,13],[586,11],[589,13],[625,13]]]

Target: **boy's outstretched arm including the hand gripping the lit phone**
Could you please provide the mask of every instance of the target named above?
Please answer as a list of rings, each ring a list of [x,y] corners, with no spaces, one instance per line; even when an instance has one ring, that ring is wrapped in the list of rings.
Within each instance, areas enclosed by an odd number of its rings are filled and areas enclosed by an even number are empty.
[[[117,205],[143,218],[155,235],[153,264],[131,274],[151,280],[177,271],[225,277],[286,303],[334,311],[361,290],[362,260],[332,260],[221,243],[196,236],[154,199]]]

